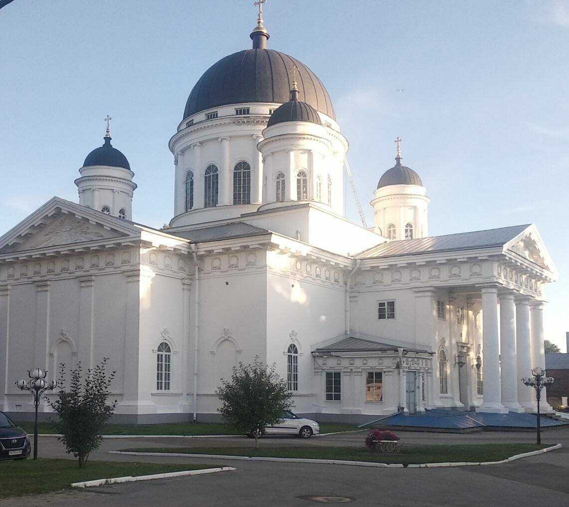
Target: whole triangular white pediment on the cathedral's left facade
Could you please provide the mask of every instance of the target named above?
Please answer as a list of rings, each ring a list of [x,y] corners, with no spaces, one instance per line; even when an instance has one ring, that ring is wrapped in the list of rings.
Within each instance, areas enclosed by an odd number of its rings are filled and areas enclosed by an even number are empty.
[[[54,197],[0,238],[0,254],[136,236],[127,222]]]

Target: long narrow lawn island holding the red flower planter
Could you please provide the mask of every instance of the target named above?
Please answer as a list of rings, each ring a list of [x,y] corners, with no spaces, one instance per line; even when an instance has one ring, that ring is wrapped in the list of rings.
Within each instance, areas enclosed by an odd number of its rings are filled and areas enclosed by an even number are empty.
[[[338,459],[374,461],[376,463],[446,463],[447,461],[499,461],[514,454],[536,451],[547,446],[535,444],[470,444],[444,446],[406,446],[401,454],[369,452],[362,447],[141,447],[122,449],[131,452],[182,452],[186,454],[219,454],[227,456],[299,457],[308,459]]]

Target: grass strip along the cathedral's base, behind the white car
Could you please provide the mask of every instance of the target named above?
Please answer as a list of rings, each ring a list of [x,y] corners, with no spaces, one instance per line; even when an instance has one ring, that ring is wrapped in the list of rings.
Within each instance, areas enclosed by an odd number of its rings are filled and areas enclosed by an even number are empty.
[[[34,432],[34,423],[30,421],[15,421],[28,433]],[[41,433],[56,433],[52,423],[38,424]],[[322,423],[321,433],[334,431],[351,431],[357,427],[353,424]],[[238,435],[225,424],[215,423],[168,423],[168,424],[107,424],[103,430],[104,435]]]

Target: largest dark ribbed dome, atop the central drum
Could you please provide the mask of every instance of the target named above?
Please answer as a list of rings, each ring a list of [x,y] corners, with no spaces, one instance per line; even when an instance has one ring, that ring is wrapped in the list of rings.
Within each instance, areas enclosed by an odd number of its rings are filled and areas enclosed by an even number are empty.
[[[298,67],[299,100],[336,118],[324,85],[306,65],[280,51],[239,51],[213,64],[197,81],[185,104],[184,119],[206,109],[242,102],[288,102],[293,66]]]

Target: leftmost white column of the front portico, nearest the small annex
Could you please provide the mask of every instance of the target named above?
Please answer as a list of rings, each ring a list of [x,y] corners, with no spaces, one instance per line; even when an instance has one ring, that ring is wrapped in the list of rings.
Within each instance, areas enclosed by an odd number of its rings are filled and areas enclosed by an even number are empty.
[[[477,412],[507,413],[500,394],[500,345],[498,344],[498,288],[482,287],[482,340],[484,401]]]

